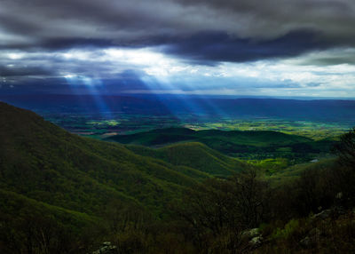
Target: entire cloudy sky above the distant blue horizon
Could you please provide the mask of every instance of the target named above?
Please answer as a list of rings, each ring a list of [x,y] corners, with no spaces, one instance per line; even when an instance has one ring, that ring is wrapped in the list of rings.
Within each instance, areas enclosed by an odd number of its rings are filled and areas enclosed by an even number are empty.
[[[0,0],[1,93],[355,98],[353,0]]]

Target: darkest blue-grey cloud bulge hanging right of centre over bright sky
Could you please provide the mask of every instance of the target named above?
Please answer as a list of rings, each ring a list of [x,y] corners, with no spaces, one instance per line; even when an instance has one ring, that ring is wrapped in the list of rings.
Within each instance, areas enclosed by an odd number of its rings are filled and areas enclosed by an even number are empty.
[[[225,32],[204,32],[177,40],[166,52],[202,61],[252,61],[292,57],[303,52],[325,49],[330,43],[321,41],[312,31],[291,32],[280,38],[254,41],[227,35]]]

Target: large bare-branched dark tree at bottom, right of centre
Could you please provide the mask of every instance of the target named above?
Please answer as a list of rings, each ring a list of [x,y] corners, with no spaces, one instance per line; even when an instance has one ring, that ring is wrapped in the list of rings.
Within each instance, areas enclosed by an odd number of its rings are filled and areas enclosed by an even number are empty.
[[[245,229],[259,226],[267,214],[267,185],[255,170],[231,179],[208,179],[185,194],[177,208],[194,231],[201,252],[244,253]]]

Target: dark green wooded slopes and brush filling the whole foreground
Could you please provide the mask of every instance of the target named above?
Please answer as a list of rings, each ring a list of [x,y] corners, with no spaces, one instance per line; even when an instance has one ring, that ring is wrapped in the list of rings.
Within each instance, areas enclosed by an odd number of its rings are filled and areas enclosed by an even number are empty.
[[[196,142],[85,139],[3,103],[0,122],[1,253],[90,253],[107,241],[117,253],[355,250],[355,131],[336,158],[285,169]]]

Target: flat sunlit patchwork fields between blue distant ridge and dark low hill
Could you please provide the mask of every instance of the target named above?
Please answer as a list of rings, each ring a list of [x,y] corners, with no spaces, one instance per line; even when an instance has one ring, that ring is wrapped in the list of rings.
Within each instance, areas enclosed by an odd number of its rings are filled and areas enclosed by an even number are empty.
[[[311,139],[333,139],[351,129],[351,123],[290,121],[283,119],[228,119],[196,115],[124,115],[107,118],[102,115],[43,114],[51,123],[81,135],[106,138],[110,134],[131,134],[168,127],[193,130],[281,131]]]

